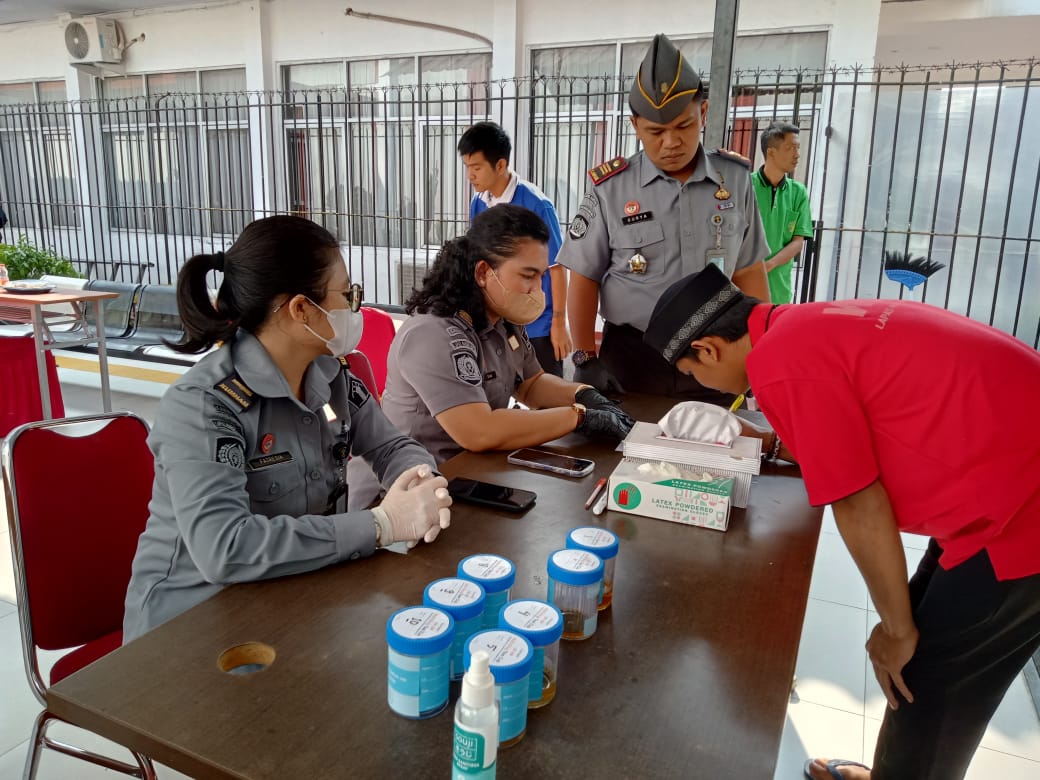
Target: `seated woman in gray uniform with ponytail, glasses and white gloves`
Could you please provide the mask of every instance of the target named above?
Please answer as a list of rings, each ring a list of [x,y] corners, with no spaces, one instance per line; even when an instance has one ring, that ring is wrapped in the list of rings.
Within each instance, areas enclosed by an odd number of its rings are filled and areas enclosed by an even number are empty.
[[[223,271],[215,306],[206,279]],[[151,516],[134,556],[124,642],[225,584],[311,571],[395,541],[432,542],[451,499],[434,460],[393,427],[340,356],[361,338],[361,287],[336,239],[296,216],[249,225],[181,269],[185,336],[219,342],[162,397],[149,447]],[[346,461],[386,498],[346,512]]]

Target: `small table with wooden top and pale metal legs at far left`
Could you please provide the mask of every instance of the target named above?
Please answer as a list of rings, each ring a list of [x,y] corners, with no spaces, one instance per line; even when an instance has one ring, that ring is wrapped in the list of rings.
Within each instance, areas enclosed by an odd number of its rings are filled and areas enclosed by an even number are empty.
[[[51,391],[50,383],[47,379],[47,350],[63,349],[80,344],[98,344],[98,363],[101,373],[101,405],[106,412],[112,411],[112,395],[108,385],[108,352],[105,348],[105,301],[119,297],[114,292],[100,292],[96,290],[62,290],[45,292],[38,295],[26,295],[14,292],[3,292],[0,288],[0,305],[16,306],[29,311],[32,321],[32,338],[36,345],[36,371],[40,375],[40,398],[43,402],[44,419],[51,419]],[[75,341],[62,341],[55,343],[53,340],[48,343],[47,323],[44,319],[43,307],[54,304],[72,304],[81,306],[94,304],[95,335],[85,334],[84,338]],[[85,328],[85,320],[84,320]],[[85,331],[84,331],[85,333]]]

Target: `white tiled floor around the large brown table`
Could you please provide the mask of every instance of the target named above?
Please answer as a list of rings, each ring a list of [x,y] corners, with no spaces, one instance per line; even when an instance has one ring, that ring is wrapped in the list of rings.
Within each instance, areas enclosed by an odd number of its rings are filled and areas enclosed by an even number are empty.
[[[74,373],[74,372],[73,372]],[[97,391],[78,388],[62,378],[62,390],[69,414],[100,409]],[[138,383],[133,383],[138,384]],[[133,393],[132,384],[116,387],[115,406],[133,409],[152,419],[157,392]],[[0,501],[0,513],[3,502]],[[0,517],[0,780],[20,778],[25,761],[27,739],[38,705],[29,692],[22,668],[19,647],[18,615],[15,609],[14,582],[6,531],[6,519]],[[906,536],[907,562],[916,566],[922,540]],[[809,603],[798,658],[798,686],[787,708],[787,722],[774,780],[799,780],[807,756],[851,758],[869,763],[874,755],[885,702],[874,680],[863,643],[878,621],[872,609],[866,587],[856,571],[833,519],[828,515],[820,537],[816,565],[812,573]],[[52,658],[45,658],[47,668]],[[46,674],[46,669],[45,669]],[[59,725],[60,726],[60,725]],[[84,736],[83,732],[52,727],[51,734],[75,733],[71,739],[84,747],[101,746],[104,740]],[[110,744],[109,744],[110,745]],[[120,756],[120,748],[109,752]],[[160,778],[183,777],[164,766]],[[113,778],[115,773],[95,769],[81,761],[47,752],[41,762],[41,780],[67,778]],[[1022,677],[1008,692],[990,724],[982,747],[968,771],[968,780],[1035,780],[1040,777],[1040,719],[1034,709]]]

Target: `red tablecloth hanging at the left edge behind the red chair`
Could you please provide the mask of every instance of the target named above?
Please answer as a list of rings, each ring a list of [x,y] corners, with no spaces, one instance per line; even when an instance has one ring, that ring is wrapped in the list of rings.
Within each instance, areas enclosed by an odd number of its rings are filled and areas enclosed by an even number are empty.
[[[47,379],[51,386],[51,416],[64,417],[61,386],[54,355],[47,353]],[[0,436],[24,422],[42,420],[36,350],[31,338],[0,338]]]

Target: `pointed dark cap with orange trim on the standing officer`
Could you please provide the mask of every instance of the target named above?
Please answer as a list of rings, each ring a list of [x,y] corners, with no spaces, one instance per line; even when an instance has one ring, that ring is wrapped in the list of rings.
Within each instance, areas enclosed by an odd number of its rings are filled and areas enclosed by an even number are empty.
[[[628,93],[632,113],[667,125],[701,94],[701,77],[662,33],[654,35]]]

